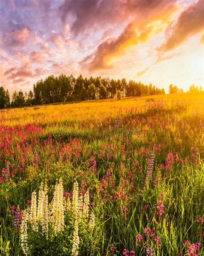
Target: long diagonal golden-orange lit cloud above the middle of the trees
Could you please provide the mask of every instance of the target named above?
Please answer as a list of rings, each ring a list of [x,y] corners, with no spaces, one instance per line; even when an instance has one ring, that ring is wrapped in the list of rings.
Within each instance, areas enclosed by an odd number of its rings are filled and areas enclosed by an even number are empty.
[[[149,8],[149,6],[147,8]],[[112,59],[120,54],[124,54],[126,49],[146,42],[151,35],[156,35],[161,32],[166,24],[171,21],[175,10],[176,7],[174,4],[169,4],[168,2],[167,6],[165,6],[163,3],[161,10],[157,9],[155,12],[154,9],[151,9],[151,14],[148,14],[148,19],[147,16],[142,20],[136,19],[130,22],[117,38],[108,38],[102,42],[98,46],[95,54],[93,54],[93,60],[89,63],[90,71],[113,67]],[[84,61],[87,61],[87,57],[84,58]]]

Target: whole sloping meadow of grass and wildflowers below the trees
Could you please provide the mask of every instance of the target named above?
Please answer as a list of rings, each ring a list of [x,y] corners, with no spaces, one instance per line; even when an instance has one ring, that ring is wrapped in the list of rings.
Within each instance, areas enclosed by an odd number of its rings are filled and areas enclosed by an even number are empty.
[[[203,255],[203,99],[1,111],[1,255]]]

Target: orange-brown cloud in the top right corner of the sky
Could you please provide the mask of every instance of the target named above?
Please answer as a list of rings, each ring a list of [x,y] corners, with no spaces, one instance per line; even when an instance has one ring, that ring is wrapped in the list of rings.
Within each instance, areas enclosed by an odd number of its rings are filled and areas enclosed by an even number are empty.
[[[204,29],[204,3],[203,0],[192,4],[184,10],[177,22],[167,29],[171,35],[167,41],[158,48],[159,51],[170,51],[184,42],[189,36],[195,35]]]

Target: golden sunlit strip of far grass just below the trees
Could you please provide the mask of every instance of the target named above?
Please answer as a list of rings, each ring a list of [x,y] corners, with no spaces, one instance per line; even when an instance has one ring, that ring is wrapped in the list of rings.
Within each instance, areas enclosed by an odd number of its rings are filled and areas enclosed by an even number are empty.
[[[117,118],[130,109],[148,107],[148,100],[163,101],[167,106],[185,104],[191,111],[204,111],[204,92],[127,97],[122,100],[102,99],[79,103],[39,106],[38,109],[8,109],[0,112],[0,125],[15,126],[27,123],[52,124],[68,121],[70,123],[95,122],[100,124],[105,118]]]

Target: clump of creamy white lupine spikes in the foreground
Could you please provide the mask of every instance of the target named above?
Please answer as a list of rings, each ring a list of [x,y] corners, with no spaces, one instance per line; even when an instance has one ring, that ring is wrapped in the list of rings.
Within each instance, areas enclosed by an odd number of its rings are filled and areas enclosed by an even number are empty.
[[[72,212],[74,218],[74,234],[73,234],[73,245],[71,255],[77,256],[79,251],[79,224],[83,219],[87,222],[88,227],[92,231],[95,226],[95,215],[93,212],[90,214],[89,218],[89,208],[90,208],[90,197],[89,191],[85,195],[79,195],[78,182],[74,182],[73,196],[70,198],[63,197],[63,185],[62,179],[59,179],[55,185],[53,200],[48,206],[48,189],[45,185],[41,184],[39,189],[39,194],[37,198],[36,192],[32,193],[31,197],[31,207],[27,208],[24,212],[22,219],[22,224],[20,227],[21,231],[21,246],[23,253],[28,255],[28,222],[31,224],[31,228],[34,231],[38,231],[38,225],[42,227],[43,233],[48,234],[49,227],[50,231],[56,236],[59,232],[64,230],[64,216],[67,210]]]

